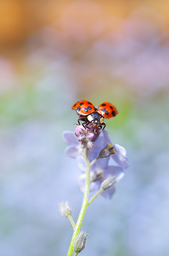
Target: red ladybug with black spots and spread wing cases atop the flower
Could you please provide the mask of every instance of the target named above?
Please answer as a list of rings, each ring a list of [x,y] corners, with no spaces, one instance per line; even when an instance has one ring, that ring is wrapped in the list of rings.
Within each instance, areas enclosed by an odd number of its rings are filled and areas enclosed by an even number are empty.
[[[80,125],[80,121],[83,121],[82,125],[86,129],[87,125],[91,124],[94,127],[95,133],[96,130],[105,129],[106,124],[104,123],[104,118],[110,119],[118,114],[115,106],[109,102],[103,102],[97,109],[90,101],[80,100],[72,108],[80,116],[78,118],[79,124],[77,125]]]

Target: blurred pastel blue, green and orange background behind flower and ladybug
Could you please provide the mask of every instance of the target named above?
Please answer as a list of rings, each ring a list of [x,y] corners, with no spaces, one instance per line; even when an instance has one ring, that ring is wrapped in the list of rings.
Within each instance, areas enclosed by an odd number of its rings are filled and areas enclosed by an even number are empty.
[[[1,0],[1,255],[67,254],[73,229],[58,203],[76,221],[83,195],[62,132],[74,131],[81,99],[116,106],[106,130],[131,166],[111,201],[88,207],[81,255],[168,255],[168,10],[166,0]]]

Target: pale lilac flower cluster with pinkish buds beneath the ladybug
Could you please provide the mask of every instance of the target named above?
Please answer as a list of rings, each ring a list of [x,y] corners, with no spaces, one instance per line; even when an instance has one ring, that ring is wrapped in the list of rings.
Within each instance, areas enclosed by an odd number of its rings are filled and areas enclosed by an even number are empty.
[[[75,129],[75,134],[72,132],[64,132],[63,140],[69,146],[66,148],[66,156],[75,158],[77,160],[78,168],[83,173],[78,178],[78,188],[84,193],[85,187],[85,160],[84,160],[84,148],[89,148],[89,161],[90,163],[96,159],[91,166],[90,171],[90,191],[99,190],[101,183],[110,175],[114,178],[113,184],[123,178],[125,169],[129,167],[126,163],[128,158],[126,157],[126,150],[124,147],[118,144],[113,144],[110,140],[107,131],[102,131],[103,136],[100,136],[100,130],[94,133],[94,129],[90,127],[90,130],[84,129],[82,125],[79,125]],[[117,165],[109,165],[110,157],[114,159]],[[102,191],[101,195],[110,199],[115,192],[114,185],[110,189]]]

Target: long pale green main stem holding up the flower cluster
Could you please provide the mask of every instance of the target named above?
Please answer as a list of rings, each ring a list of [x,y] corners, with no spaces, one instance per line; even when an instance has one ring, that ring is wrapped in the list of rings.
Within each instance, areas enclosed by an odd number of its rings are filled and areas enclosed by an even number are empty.
[[[80,231],[82,221],[88,206],[88,197],[89,197],[89,188],[90,188],[90,162],[88,159],[88,148],[86,147],[86,152],[85,152],[85,163],[86,163],[86,180],[85,180],[85,190],[84,190],[84,196],[83,196],[83,202],[82,202],[82,207],[80,210],[80,214],[74,229],[73,236],[71,238],[70,246],[67,252],[67,256],[71,256],[74,251],[74,243],[75,240],[78,236],[78,233]]]

